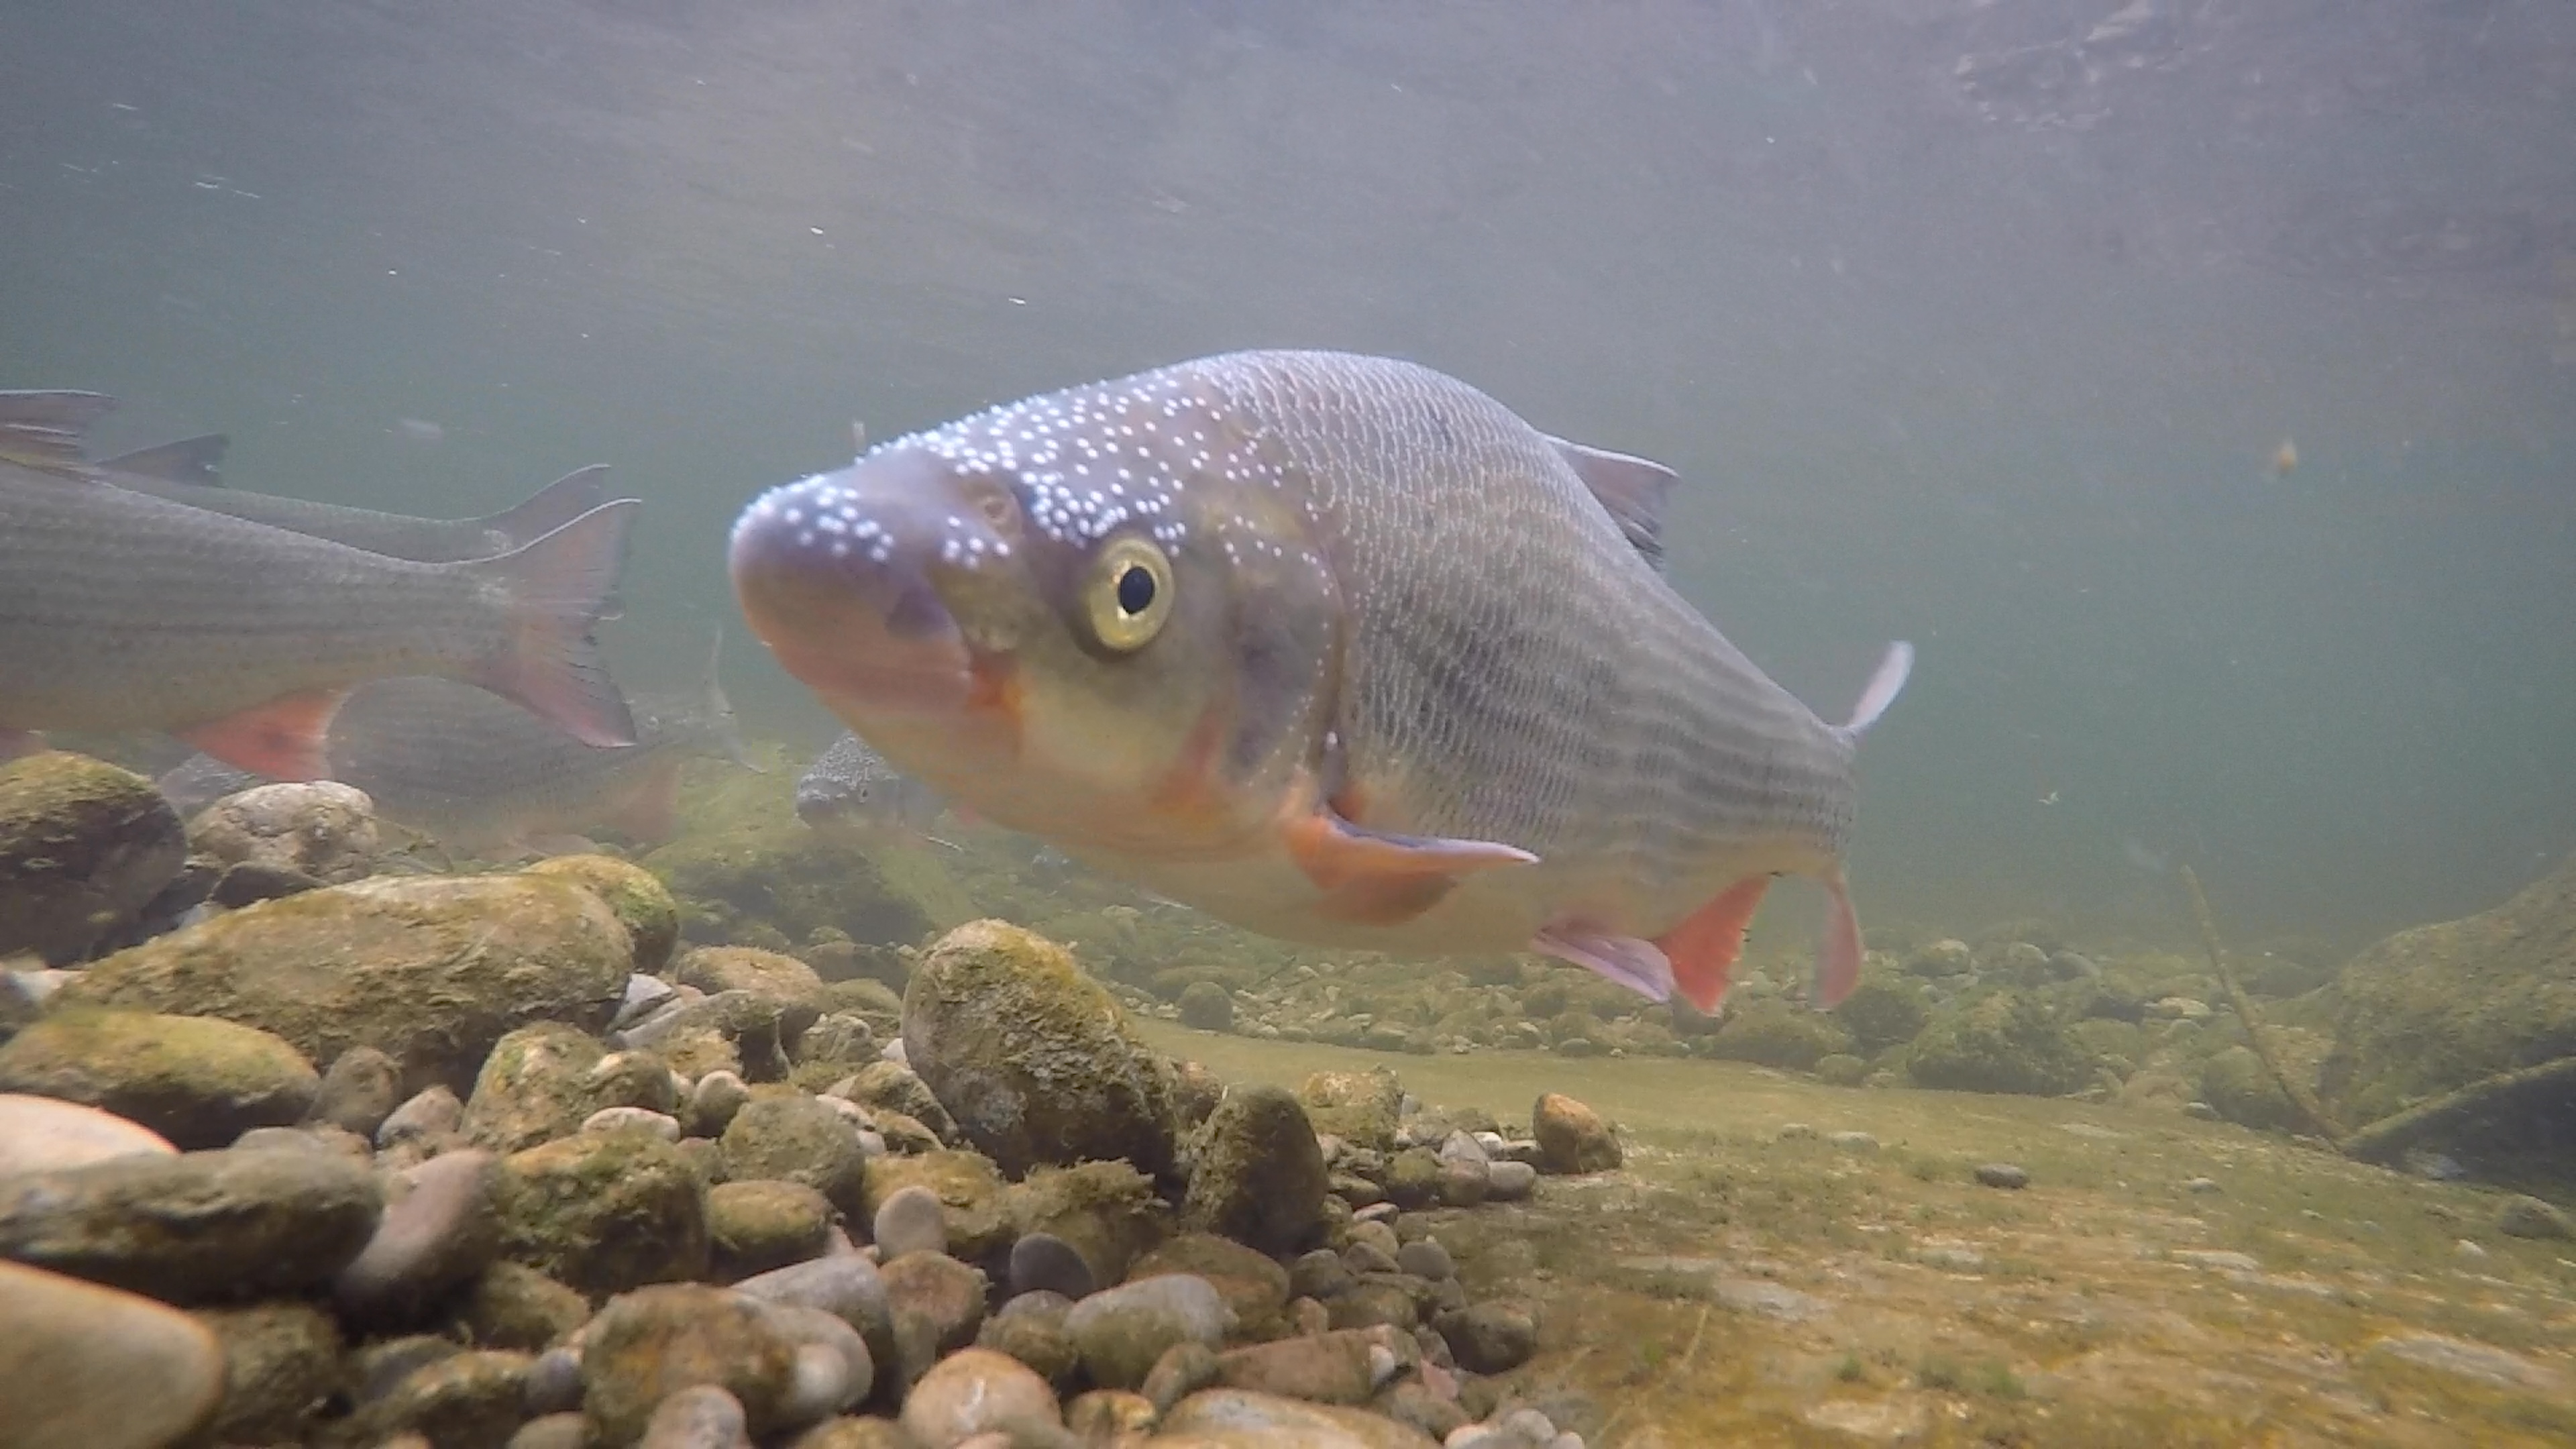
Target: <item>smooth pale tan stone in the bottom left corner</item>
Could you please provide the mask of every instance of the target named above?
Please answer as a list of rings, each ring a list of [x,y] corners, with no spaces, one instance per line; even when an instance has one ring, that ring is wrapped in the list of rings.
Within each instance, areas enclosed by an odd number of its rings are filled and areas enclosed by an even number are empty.
[[[10,1444],[160,1449],[206,1423],[224,1348],[185,1312],[62,1274],[0,1263],[0,1405]]]

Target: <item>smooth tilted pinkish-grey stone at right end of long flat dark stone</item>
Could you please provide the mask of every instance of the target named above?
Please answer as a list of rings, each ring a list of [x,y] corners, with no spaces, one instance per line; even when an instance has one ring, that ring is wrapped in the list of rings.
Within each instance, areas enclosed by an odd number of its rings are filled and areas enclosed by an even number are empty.
[[[410,1323],[500,1256],[500,1158],[430,1158],[394,1178],[376,1235],[332,1281],[355,1323]]]

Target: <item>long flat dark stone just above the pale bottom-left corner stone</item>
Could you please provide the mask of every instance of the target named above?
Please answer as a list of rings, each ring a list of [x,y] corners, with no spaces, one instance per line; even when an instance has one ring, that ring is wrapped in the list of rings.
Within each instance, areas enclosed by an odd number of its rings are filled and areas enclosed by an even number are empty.
[[[376,1173],[335,1152],[108,1158],[0,1178],[0,1256],[167,1302],[294,1294],[366,1248]]]

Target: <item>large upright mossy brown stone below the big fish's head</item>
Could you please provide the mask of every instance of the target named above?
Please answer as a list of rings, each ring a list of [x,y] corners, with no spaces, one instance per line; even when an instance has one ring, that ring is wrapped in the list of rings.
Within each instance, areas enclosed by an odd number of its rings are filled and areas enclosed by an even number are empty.
[[[1010,1176],[1087,1158],[1172,1171],[1170,1062],[1072,954],[1018,926],[976,920],[930,949],[904,993],[904,1057]]]

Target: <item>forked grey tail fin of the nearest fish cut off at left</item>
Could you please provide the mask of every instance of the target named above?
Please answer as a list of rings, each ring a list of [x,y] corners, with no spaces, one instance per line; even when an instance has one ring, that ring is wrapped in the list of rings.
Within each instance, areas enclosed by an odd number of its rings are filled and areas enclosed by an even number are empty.
[[[634,498],[603,503],[515,554],[459,565],[510,590],[510,645],[474,683],[526,704],[585,745],[634,745],[626,696],[592,637],[626,567]]]

